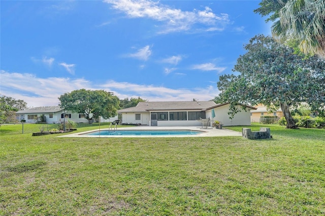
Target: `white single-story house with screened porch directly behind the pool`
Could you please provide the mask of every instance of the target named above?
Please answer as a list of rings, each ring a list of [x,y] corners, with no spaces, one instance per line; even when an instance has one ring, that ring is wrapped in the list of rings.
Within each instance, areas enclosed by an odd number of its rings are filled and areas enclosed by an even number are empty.
[[[210,118],[210,126],[218,120],[223,125],[250,125],[250,110],[237,113],[230,119],[229,103],[216,104],[213,101],[139,102],[135,107],[118,110],[122,123],[150,126],[202,126],[201,119]],[[212,118],[212,110],[215,117]]]

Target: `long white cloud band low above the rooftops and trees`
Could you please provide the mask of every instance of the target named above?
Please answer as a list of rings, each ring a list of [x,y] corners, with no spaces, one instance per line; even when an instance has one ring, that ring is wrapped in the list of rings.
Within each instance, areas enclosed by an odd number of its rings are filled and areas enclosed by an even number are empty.
[[[138,97],[149,101],[189,101],[193,98],[210,100],[219,94],[215,86],[193,89],[172,89],[164,86],[139,85],[113,80],[93,84],[85,79],[64,77],[39,78],[32,74],[9,73],[1,70],[1,93],[23,99],[28,106],[57,105],[58,97],[77,89],[103,89],[114,92],[120,99]]]

